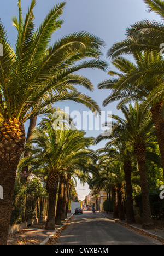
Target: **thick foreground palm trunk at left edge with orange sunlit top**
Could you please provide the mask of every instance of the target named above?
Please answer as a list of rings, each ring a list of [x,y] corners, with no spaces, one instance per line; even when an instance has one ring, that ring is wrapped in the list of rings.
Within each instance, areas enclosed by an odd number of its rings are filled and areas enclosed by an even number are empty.
[[[5,120],[0,127],[0,141],[0,245],[6,245],[16,170],[25,144],[24,125],[16,118]]]

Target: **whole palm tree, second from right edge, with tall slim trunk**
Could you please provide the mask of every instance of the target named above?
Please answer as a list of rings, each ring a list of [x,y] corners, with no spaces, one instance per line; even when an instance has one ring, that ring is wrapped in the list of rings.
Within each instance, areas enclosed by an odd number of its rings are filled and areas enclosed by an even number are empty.
[[[120,107],[125,116],[125,120],[113,115],[120,124],[120,131],[126,131],[128,141],[133,145],[136,155],[137,164],[140,174],[140,186],[142,190],[142,205],[143,205],[143,226],[150,228],[153,225],[151,219],[151,210],[149,202],[149,191],[147,181],[147,166],[146,166],[146,148],[153,147],[156,143],[153,120],[151,112],[143,111],[140,105],[136,102],[135,106]]]

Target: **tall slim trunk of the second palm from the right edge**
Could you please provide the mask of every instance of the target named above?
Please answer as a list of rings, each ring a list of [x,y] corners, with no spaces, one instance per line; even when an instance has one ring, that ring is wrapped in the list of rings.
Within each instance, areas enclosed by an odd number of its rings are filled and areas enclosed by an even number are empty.
[[[139,174],[140,174],[140,187],[142,193],[142,207],[143,207],[143,228],[149,229],[153,226],[153,220],[151,218],[149,190],[147,181],[147,166],[146,166],[146,149],[144,145],[134,147],[136,154]]]

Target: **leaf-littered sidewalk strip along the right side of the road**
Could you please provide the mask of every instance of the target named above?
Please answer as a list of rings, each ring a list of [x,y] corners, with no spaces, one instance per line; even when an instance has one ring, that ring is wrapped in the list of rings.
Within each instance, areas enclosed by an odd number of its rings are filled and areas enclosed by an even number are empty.
[[[109,219],[112,219],[115,222],[120,223],[121,225],[127,226],[127,228],[131,228],[142,235],[146,235],[152,238],[156,237],[160,241],[164,242],[164,227],[161,228],[161,227],[155,226],[154,229],[147,230],[142,228],[142,223],[127,224],[126,220],[119,220],[119,218],[113,218],[113,214],[110,214],[110,213],[107,214],[106,212],[97,212],[97,213],[104,217],[108,217]]]

